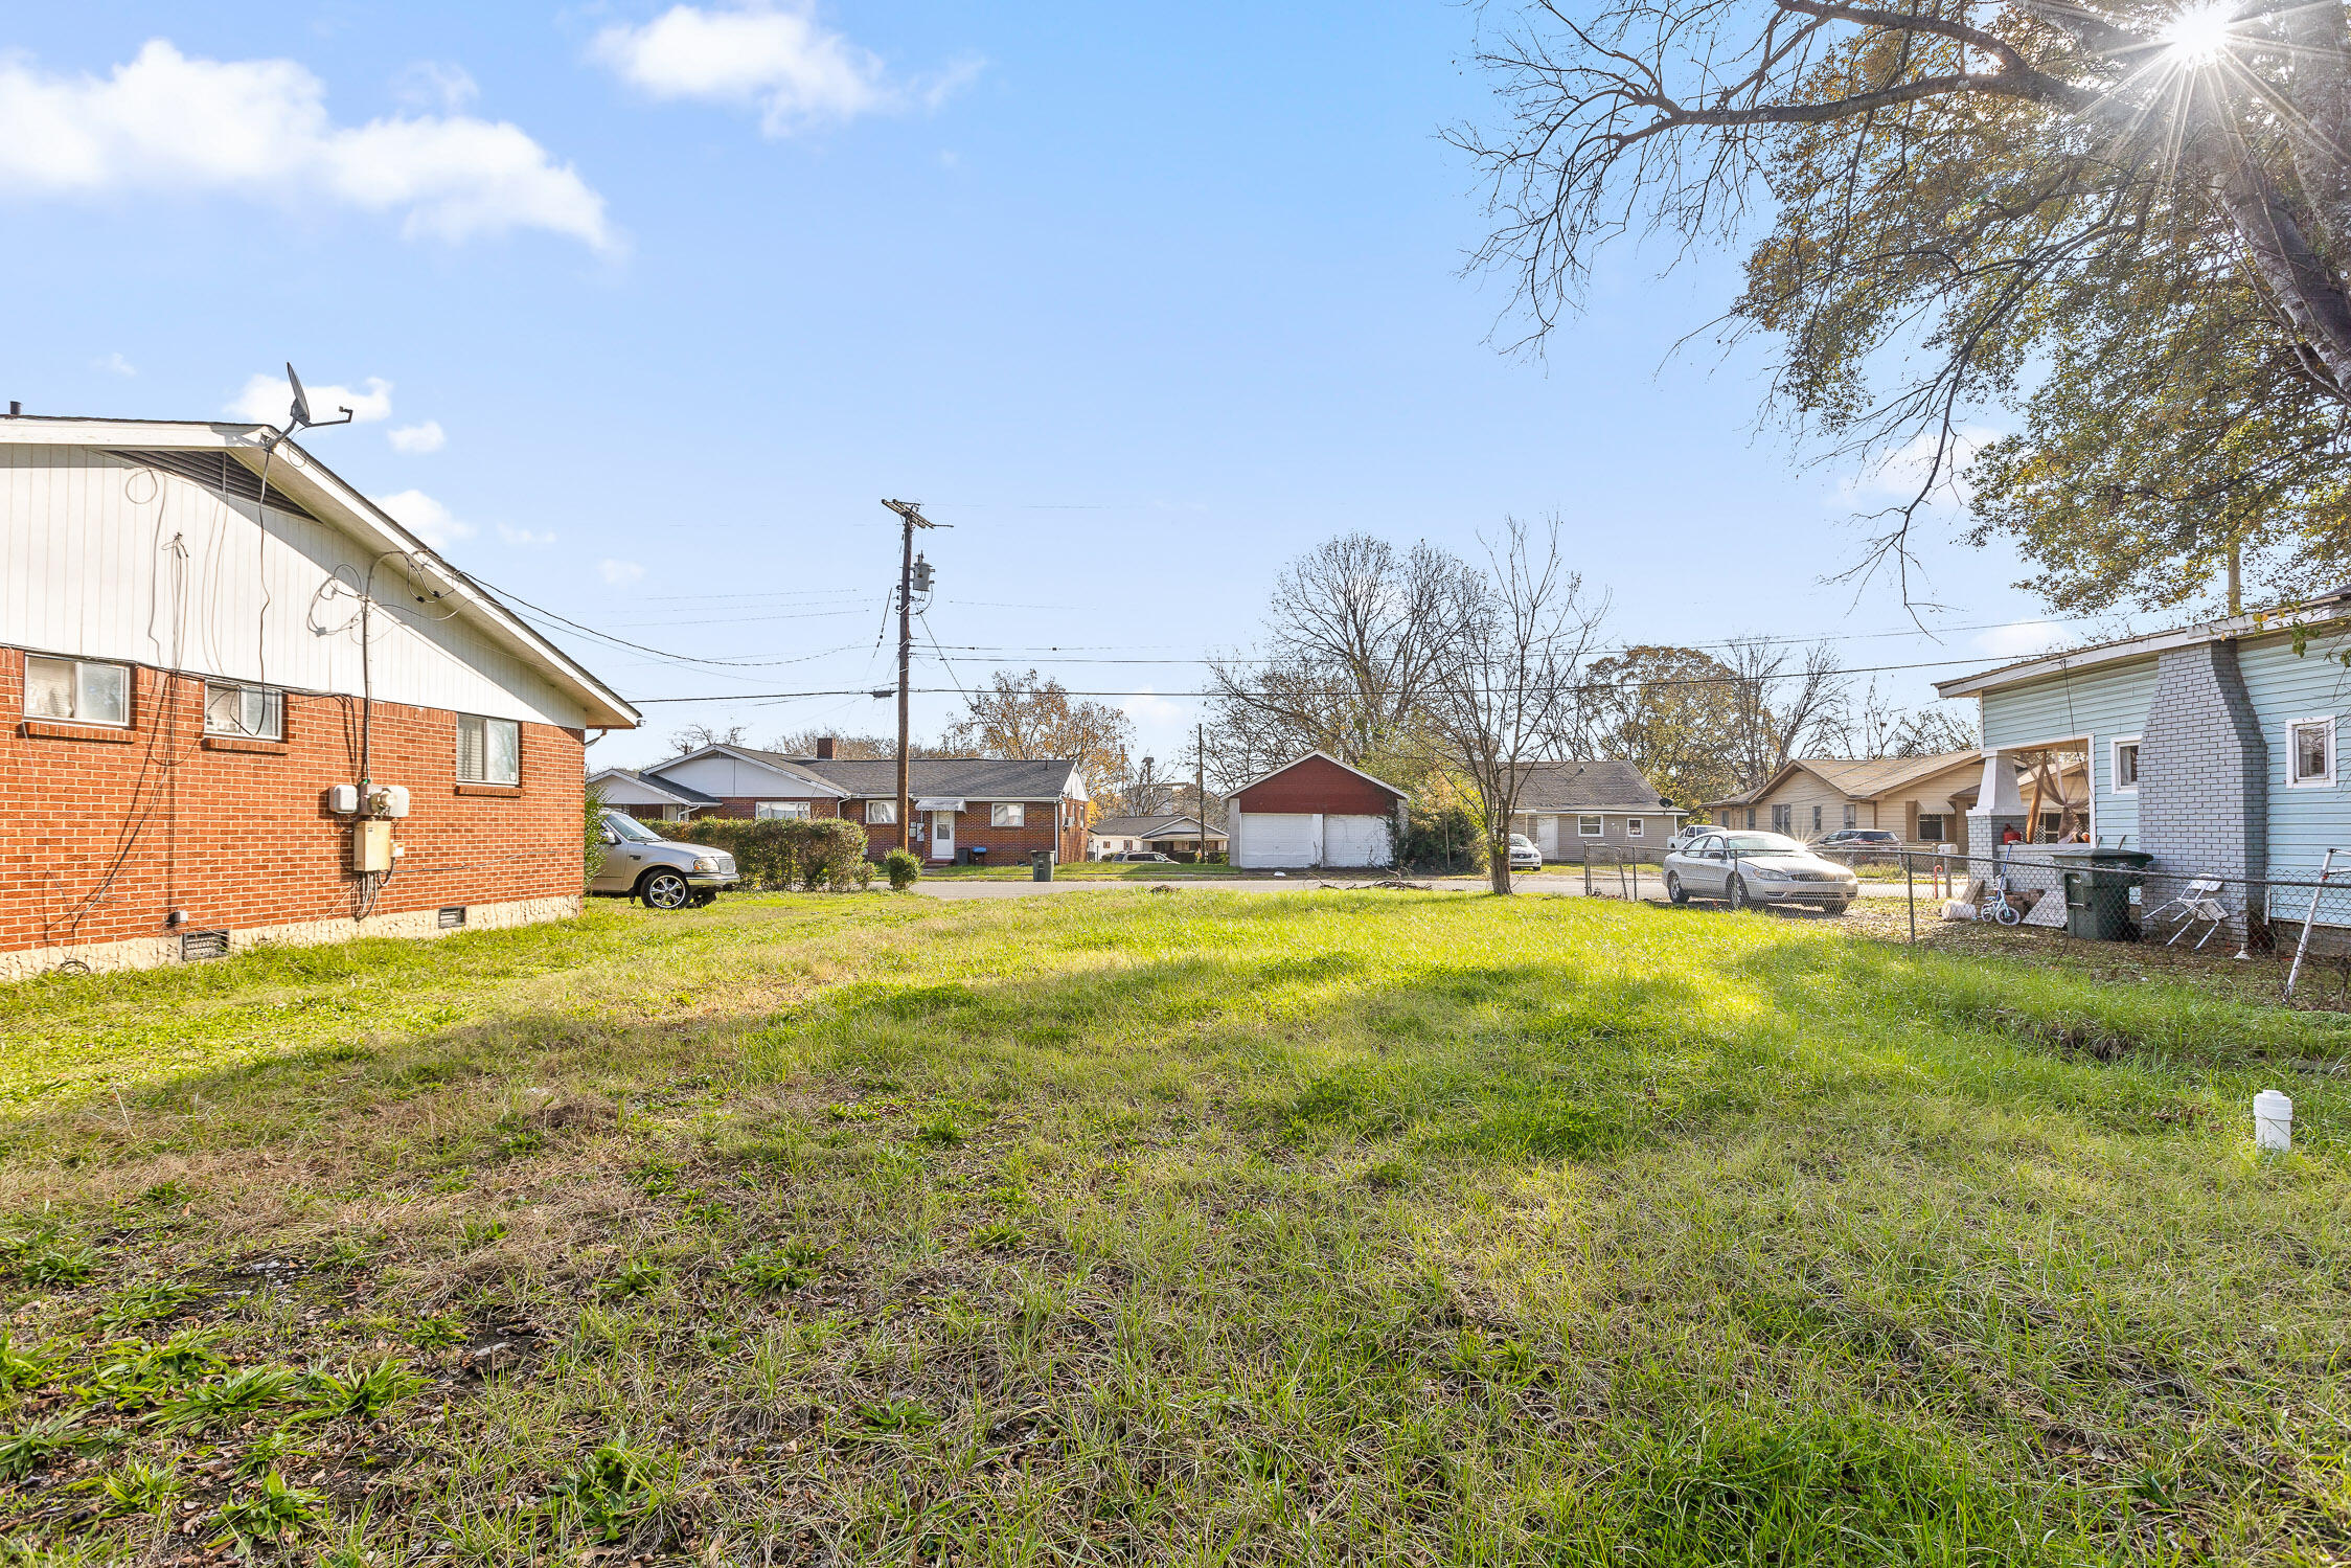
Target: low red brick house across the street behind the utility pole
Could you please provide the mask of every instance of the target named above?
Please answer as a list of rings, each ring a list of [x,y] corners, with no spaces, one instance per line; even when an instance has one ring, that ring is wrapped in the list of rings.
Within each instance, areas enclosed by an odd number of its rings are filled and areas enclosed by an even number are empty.
[[[863,823],[875,860],[900,844],[898,762],[837,757],[832,741],[818,741],[813,757],[705,745],[651,769],[604,769],[590,783],[607,804],[647,820],[837,816]],[[912,849],[933,865],[971,860],[973,851],[992,865],[1039,849],[1086,858],[1086,776],[1074,762],[915,757],[907,790]]]

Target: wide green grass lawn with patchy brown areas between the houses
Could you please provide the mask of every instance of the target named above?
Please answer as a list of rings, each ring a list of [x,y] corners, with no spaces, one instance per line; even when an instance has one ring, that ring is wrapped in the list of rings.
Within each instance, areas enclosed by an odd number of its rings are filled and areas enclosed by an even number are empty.
[[[40,980],[5,1561],[2335,1563],[2342,1060],[2163,978],[1460,893]]]

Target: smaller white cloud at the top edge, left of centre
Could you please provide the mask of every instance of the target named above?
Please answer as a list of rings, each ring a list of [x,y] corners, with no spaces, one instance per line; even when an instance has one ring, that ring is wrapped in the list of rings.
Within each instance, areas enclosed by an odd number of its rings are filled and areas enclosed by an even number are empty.
[[[752,106],[769,136],[907,103],[936,110],[983,66],[966,59],[919,82],[891,82],[882,56],[825,28],[811,5],[764,0],[672,5],[639,28],[604,28],[588,52],[651,99]]]

